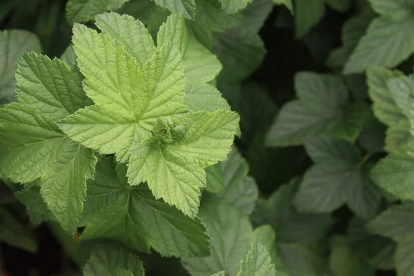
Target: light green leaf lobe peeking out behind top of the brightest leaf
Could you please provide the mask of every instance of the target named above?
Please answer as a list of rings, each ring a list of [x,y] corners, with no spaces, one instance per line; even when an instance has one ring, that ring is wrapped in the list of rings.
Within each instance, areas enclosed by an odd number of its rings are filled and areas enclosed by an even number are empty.
[[[154,41],[141,21],[115,12],[99,14],[95,20],[104,34],[123,43],[126,52],[135,57],[141,68],[154,54]]]

